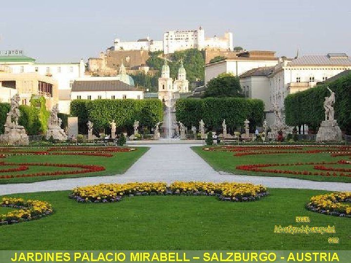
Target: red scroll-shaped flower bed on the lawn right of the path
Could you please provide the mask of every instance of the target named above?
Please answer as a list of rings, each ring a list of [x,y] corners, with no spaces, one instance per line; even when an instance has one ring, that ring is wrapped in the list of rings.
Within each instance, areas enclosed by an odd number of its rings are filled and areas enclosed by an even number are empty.
[[[251,165],[239,165],[236,167],[238,170],[246,170],[246,171],[254,171],[254,172],[268,172],[268,173],[283,173],[283,174],[297,174],[297,175],[319,175],[319,176],[342,176],[342,177],[351,177],[351,169],[339,169],[326,167],[324,165],[335,165],[335,164],[350,164],[350,162],[346,162],[344,160],[340,160],[338,162],[322,162],[322,163],[295,163],[295,164],[251,164]],[[293,171],[287,169],[263,169],[267,167],[276,167],[276,166],[298,166],[298,165],[314,165],[314,170],[326,170],[326,171],[334,171],[332,174],[330,172],[312,172],[312,171]],[[336,173],[335,171],[339,171],[341,173]]]

